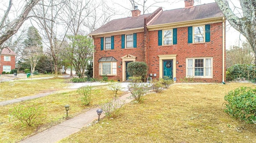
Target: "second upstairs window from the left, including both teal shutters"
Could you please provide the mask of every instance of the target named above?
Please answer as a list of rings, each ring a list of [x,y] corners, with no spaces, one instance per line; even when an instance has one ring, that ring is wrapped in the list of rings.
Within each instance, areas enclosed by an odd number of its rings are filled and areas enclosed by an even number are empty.
[[[137,47],[137,33],[121,35],[121,48],[136,48]]]

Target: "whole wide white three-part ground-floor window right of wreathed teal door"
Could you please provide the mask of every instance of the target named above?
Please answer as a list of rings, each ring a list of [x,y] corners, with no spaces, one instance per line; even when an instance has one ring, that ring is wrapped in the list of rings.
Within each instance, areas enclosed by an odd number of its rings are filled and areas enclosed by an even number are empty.
[[[186,77],[212,78],[212,57],[187,58]]]

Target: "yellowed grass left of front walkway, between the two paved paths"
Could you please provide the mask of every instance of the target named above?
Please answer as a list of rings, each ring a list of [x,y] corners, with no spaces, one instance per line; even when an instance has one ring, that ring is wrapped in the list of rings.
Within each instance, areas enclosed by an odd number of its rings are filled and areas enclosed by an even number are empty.
[[[49,83],[50,84],[50,83]],[[54,82],[53,84],[56,84]],[[39,86],[39,85],[38,85]],[[1,106],[0,110],[0,143],[14,143],[21,139],[24,139],[30,135],[34,135],[41,131],[46,130],[53,125],[63,122],[66,120],[66,110],[64,105],[69,104],[70,110],[68,111],[68,118],[73,118],[78,114],[82,114],[98,106],[106,99],[110,99],[113,96],[113,92],[108,89],[107,86],[96,87],[95,89],[100,90],[97,94],[92,94],[92,105],[83,106],[79,101],[80,95],[74,91],[56,91],[56,94],[52,94],[46,97]],[[122,95],[124,92],[118,92],[118,95]],[[42,124],[39,127],[22,127],[18,120],[9,121],[9,110],[19,104],[30,104],[36,103],[44,106],[44,118]]]

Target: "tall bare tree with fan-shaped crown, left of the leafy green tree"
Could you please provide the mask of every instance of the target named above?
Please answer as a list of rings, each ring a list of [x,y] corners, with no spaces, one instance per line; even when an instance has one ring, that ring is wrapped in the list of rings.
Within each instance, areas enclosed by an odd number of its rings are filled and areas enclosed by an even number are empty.
[[[46,40],[48,54],[54,61],[54,76],[58,76],[58,56],[62,50],[62,43],[67,33],[67,27],[60,20],[60,13],[64,3],[61,0],[42,0],[42,4],[33,10],[39,18],[34,20],[42,30],[43,39]]]

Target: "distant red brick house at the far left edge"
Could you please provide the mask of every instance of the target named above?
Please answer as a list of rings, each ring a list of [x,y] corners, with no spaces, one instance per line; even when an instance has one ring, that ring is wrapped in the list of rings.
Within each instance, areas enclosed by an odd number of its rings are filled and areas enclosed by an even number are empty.
[[[12,69],[15,69],[16,55],[17,54],[8,47],[2,49],[0,55],[0,74],[2,74],[3,71],[10,72]]]

